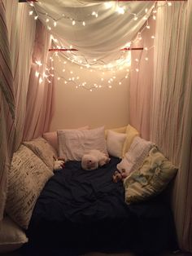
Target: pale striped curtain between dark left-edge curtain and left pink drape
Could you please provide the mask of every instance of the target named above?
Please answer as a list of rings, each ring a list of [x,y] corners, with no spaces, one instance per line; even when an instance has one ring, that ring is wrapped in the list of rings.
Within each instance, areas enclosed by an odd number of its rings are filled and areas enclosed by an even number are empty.
[[[20,146],[24,133],[27,92],[36,21],[28,15],[28,4],[6,2],[11,62],[15,88],[15,150]],[[27,25],[26,25],[27,24]]]

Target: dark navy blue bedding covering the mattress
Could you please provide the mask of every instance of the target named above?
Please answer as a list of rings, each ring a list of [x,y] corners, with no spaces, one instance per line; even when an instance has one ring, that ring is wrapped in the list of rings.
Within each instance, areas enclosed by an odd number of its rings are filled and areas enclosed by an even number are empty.
[[[112,182],[119,161],[111,157],[97,170],[82,170],[80,161],[68,161],[56,171],[33,210],[28,245],[73,248],[76,255],[77,250],[90,249],[155,255],[174,245],[172,212],[162,195],[135,205],[124,203],[123,183]]]

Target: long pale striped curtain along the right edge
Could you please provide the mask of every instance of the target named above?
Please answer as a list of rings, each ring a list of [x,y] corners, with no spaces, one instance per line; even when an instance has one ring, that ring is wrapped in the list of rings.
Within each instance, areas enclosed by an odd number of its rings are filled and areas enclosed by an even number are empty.
[[[159,4],[164,4],[159,3]],[[191,251],[192,2],[158,10],[151,140],[179,167],[172,209],[181,249]]]

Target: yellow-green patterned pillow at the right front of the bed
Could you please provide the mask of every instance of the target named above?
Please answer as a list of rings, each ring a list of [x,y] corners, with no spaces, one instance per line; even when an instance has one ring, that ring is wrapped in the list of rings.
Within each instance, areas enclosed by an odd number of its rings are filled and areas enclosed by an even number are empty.
[[[177,174],[177,167],[153,147],[142,166],[124,179],[127,204],[146,201],[158,195]]]

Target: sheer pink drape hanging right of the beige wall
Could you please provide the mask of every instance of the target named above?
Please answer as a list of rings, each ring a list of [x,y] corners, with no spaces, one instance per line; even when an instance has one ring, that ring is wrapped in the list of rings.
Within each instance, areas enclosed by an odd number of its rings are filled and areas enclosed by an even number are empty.
[[[151,93],[153,86],[155,21],[150,18],[150,29],[144,29],[133,47],[143,47],[142,51],[132,51],[129,87],[129,123],[144,139],[150,137]],[[145,25],[146,27],[146,25]],[[137,38],[136,38],[137,39]],[[138,61],[137,61],[138,60]],[[139,72],[136,69],[139,69]]]

